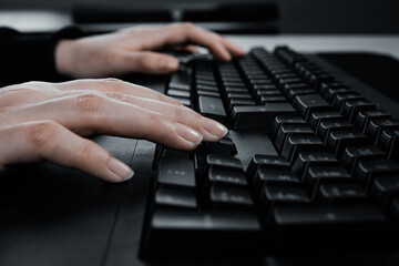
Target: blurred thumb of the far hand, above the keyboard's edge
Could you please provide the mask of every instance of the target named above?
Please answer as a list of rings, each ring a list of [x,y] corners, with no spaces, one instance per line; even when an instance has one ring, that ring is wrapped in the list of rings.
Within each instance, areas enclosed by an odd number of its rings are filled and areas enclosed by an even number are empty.
[[[129,55],[130,68],[135,72],[167,74],[178,69],[178,60],[156,52],[134,52]]]

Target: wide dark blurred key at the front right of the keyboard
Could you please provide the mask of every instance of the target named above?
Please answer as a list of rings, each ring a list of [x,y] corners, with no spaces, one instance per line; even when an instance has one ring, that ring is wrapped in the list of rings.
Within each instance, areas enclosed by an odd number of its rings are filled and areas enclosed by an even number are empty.
[[[277,206],[273,212],[278,232],[275,248],[300,249],[370,248],[386,243],[387,218],[371,204]],[[323,246],[320,247],[320,244]]]

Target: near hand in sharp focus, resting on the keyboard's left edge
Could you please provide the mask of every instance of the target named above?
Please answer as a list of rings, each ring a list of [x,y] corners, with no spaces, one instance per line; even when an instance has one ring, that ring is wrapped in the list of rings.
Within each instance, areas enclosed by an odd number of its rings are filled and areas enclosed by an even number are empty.
[[[0,171],[47,160],[109,182],[132,177],[129,166],[81,136],[94,133],[193,150],[202,140],[218,141],[227,129],[171,98],[115,79],[0,90]]]

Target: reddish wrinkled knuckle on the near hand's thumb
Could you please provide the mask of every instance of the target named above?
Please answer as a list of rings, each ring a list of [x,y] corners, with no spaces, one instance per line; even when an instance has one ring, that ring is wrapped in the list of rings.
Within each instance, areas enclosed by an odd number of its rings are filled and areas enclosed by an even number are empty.
[[[40,121],[29,126],[28,136],[34,146],[43,146],[57,136],[58,129],[53,121]]]

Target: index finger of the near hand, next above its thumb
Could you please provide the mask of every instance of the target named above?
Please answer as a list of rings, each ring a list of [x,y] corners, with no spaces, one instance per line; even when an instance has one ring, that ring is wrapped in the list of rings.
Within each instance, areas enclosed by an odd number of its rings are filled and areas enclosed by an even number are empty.
[[[162,113],[93,92],[24,106],[14,115],[25,121],[45,117],[80,134],[139,137],[181,150],[193,150],[203,139],[197,131]]]

